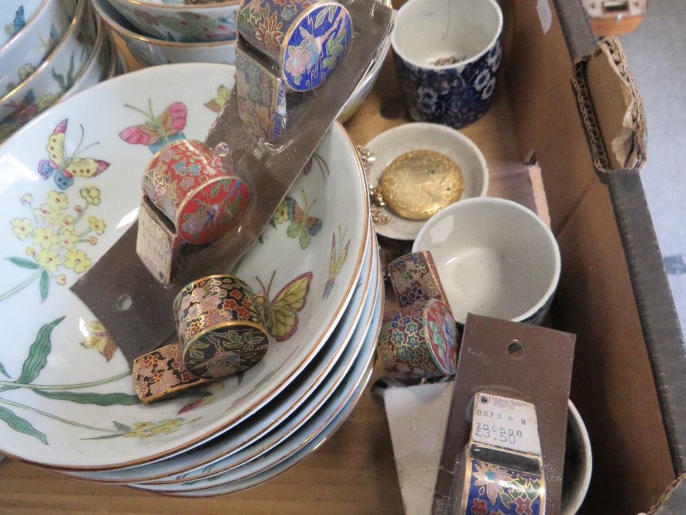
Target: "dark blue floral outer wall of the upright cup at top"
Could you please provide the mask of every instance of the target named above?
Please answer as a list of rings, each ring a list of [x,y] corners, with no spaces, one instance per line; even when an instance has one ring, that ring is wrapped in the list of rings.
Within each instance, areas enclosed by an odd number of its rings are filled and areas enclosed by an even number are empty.
[[[418,67],[394,52],[403,98],[415,122],[464,127],[493,104],[501,59],[501,38],[480,58],[464,65]]]

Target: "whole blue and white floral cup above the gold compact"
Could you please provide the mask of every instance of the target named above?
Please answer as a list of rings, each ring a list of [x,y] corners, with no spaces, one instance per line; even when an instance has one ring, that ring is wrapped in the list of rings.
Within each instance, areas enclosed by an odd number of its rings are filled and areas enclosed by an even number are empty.
[[[460,128],[493,104],[503,14],[496,0],[409,0],[391,35],[410,117]]]

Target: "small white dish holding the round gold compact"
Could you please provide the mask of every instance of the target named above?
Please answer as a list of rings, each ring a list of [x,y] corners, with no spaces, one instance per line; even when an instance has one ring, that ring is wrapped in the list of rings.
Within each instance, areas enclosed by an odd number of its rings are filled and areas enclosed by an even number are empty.
[[[445,125],[412,123],[403,124],[379,134],[366,144],[373,161],[367,165],[370,185],[378,185],[386,167],[410,150],[435,150],[446,155],[460,166],[464,191],[460,200],[486,195],[488,190],[488,165],[479,147],[458,130]],[[386,224],[375,223],[374,229],[381,236],[395,240],[414,240],[425,220],[410,220],[395,214],[388,207],[383,214],[390,216]]]

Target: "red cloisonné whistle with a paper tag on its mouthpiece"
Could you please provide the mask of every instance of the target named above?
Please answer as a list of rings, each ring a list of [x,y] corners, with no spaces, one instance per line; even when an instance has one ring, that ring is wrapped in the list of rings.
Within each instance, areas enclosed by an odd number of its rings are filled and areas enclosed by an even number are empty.
[[[224,164],[222,151],[182,139],[147,165],[136,250],[160,282],[171,280],[183,243],[216,240],[248,207],[248,186]]]

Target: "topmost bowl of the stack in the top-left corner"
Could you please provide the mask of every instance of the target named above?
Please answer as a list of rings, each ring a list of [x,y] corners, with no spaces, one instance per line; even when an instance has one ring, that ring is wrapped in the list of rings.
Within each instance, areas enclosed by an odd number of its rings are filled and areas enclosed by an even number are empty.
[[[76,1],[43,0],[34,17],[0,48],[0,98],[33,73],[60,43],[73,20]]]

